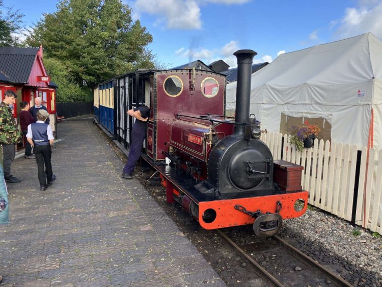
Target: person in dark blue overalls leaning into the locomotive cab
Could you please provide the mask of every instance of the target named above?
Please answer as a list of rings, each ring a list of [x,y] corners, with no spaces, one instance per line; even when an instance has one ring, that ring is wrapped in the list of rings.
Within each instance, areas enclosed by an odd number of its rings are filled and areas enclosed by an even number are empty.
[[[147,120],[150,116],[150,108],[147,106],[131,109],[127,114],[137,118],[131,130],[131,143],[127,163],[122,171],[122,177],[131,179],[135,165],[141,156],[143,141],[146,137]]]

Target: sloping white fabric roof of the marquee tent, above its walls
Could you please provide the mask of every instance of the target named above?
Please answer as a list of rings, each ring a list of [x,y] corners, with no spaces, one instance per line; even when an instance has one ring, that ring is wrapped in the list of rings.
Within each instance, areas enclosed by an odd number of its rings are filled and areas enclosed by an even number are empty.
[[[370,88],[382,81],[382,43],[371,33],[281,54],[254,73],[251,102],[359,105],[382,102]],[[357,91],[365,91],[357,97]],[[235,101],[236,83],[227,86]]]

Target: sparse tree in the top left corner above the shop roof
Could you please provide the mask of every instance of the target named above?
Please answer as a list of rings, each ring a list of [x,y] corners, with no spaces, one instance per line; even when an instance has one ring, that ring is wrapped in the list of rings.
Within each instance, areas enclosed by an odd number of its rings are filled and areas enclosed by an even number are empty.
[[[0,0],[0,46],[17,46],[19,42],[15,34],[20,32],[24,15],[19,10],[8,8],[6,16],[3,16],[3,7],[3,0]]]

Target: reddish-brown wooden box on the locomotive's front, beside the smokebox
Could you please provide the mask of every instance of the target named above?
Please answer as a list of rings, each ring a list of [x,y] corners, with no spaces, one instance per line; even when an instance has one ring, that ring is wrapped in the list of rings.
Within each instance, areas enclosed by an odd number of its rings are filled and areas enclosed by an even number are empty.
[[[304,167],[283,160],[274,161],[274,180],[282,191],[302,190],[301,176]]]

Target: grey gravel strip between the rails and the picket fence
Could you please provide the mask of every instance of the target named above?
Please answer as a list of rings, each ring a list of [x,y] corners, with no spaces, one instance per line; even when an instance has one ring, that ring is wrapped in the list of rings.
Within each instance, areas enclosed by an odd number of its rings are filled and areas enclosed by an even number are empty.
[[[279,236],[354,286],[382,286],[379,234],[310,207],[302,217],[285,220]]]

